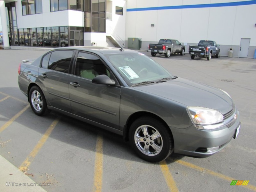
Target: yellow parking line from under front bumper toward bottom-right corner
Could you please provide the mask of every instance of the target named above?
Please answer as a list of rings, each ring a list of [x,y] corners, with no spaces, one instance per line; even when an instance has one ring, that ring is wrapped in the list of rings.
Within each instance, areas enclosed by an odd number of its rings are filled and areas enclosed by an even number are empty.
[[[182,160],[178,160],[178,161],[176,161],[176,163],[179,163],[179,164],[181,164],[181,165],[184,165],[184,166],[186,166],[186,167],[189,167],[189,168],[192,168],[192,169],[195,169],[195,170],[198,170],[198,171],[201,171],[201,172],[206,172],[206,173],[208,173],[208,174],[210,174],[210,175],[213,175],[213,176],[215,176],[215,177],[219,177],[219,178],[221,178],[221,179],[223,179],[223,180],[227,180],[227,181],[229,181],[229,184],[232,182],[232,180],[237,180],[237,179],[234,179],[234,178],[232,178],[232,177],[228,177],[228,176],[226,176],[226,175],[222,175],[222,174],[220,174],[220,173],[216,173],[216,172],[214,172],[214,171],[212,171],[212,170],[209,170],[209,169],[205,169],[205,168],[203,168],[203,167],[199,167],[199,166],[197,166],[197,165],[194,165],[194,164],[192,164],[192,163],[188,163],[188,162],[186,162],[186,161],[182,161]],[[248,179],[248,178],[247,178]],[[228,184],[228,185],[229,185]],[[243,186],[243,187],[246,187],[246,188],[248,188],[248,189],[251,189],[251,190],[253,190],[253,191],[256,191],[256,186],[254,186],[254,185],[241,185],[241,186]]]

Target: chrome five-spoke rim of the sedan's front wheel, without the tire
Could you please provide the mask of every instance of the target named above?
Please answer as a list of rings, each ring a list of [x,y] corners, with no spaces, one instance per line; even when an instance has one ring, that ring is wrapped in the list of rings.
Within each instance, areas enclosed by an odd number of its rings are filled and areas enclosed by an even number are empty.
[[[163,148],[163,139],[160,133],[150,125],[141,125],[134,134],[136,146],[145,155],[155,156]]]

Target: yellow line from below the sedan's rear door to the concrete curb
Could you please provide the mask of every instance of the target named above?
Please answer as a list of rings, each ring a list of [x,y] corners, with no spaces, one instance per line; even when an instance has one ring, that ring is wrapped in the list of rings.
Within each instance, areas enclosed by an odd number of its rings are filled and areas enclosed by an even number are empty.
[[[37,145],[34,147],[34,149],[30,152],[30,154],[27,156],[25,161],[20,165],[19,170],[26,172],[28,166],[33,161],[37,153],[40,151],[41,147],[45,144],[46,140],[50,136],[51,132],[54,130],[55,126],[59,122],[59,118],[55,119],[51,125],[46,130],[45,134],[41,137],[41,139],[38,141]]]

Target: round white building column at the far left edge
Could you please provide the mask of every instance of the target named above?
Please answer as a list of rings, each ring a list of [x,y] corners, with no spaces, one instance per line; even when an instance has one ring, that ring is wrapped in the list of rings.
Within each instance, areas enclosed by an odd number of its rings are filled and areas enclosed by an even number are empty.
[[[10,47],[4,0],[0,0],[0,14],[3,30],[4,47]]]

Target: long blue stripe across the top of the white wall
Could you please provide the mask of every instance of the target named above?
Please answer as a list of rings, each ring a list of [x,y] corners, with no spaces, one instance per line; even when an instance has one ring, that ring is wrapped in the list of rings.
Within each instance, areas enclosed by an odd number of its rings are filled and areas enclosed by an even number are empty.
[[[240,5],[253,5],[256,4],[256,0],[240,1],[231,3],[213,3],[213,4],[199,4],[199,5],[178,5],[178,6],[166,6],[166,7],[145,7],[126,9],[130,11],[149,11],[149,10],[164,10],[164,9],[190,9],[190,8],[206,8],[206,7],[228,7],[228,6],[240,6]]]

